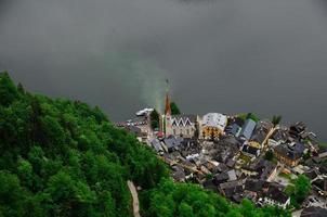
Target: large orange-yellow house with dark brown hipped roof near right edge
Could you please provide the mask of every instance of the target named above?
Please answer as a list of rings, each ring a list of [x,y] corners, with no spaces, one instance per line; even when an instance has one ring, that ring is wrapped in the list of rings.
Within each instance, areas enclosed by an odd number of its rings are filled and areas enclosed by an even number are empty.
[[[300,163],[304,150],[304,144],[300,142],[291,142],[275,146],[274,154],[279,159],[279,162],[295,167]]]

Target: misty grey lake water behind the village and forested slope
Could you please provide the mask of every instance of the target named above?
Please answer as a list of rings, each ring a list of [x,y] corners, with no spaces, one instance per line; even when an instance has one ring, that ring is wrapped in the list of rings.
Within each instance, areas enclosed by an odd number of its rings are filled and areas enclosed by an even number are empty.
[[[0,0],[0,69],[100,105],[280,114],[327,141],[325,0]]]

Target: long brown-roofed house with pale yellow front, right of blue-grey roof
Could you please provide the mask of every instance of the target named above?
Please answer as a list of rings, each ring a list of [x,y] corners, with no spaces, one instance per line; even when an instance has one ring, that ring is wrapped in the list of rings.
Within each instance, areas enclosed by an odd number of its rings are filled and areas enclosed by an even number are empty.
[[[261,149],[264,144],[264,140],[274,125],[270,120],[260,120],[257,123],[253,135],[250,138],[250,145],[257,149]]]

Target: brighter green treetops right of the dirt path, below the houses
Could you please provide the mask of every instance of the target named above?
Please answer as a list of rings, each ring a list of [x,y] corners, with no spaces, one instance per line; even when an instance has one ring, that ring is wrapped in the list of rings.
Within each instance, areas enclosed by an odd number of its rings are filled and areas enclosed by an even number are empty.
[[[164,179],[158,188],[142,194],[145,217],[215,217],[215,216],[290,216],[276,207],[257,208],[245,200],[234,205],[211,191],[189,183],[173,183]]]

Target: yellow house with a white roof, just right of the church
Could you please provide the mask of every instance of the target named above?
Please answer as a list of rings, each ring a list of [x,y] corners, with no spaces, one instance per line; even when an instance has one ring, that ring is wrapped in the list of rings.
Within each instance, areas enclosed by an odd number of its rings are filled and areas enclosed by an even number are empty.
[[[201,120],[201,137],[204,139],[218,138],[224,132],[227,116],[219,113],[208,113]]]

